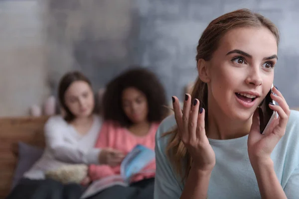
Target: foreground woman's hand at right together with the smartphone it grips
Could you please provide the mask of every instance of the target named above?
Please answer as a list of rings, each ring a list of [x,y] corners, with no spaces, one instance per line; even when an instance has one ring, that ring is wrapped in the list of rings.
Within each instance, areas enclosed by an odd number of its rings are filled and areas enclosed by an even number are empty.
[[[265,162],[272,161],[271,153],[285,134],[290,113],[289,105],[281,92],[272,87],[252,116],[247,147],[253,168],[260,168]]]

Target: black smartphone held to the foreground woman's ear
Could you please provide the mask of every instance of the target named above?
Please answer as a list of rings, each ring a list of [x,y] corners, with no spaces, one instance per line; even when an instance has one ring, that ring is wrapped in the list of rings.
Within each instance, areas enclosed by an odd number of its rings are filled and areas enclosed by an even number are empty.
[[[261,134],[264,134],[269,128],[269,125],[271,124],[271,121],[275,118],[276,111],[272,110],[269,107],[269,103],[275,104],[275,101],[271,98],[272,88],[267,94],[266,98],[261,102],[259,105],[259,116],[260,116],[260,132]]]

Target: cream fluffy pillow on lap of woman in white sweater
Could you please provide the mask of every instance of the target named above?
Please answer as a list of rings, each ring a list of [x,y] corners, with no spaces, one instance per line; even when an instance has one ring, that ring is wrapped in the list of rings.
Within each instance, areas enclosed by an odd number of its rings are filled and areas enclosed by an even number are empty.
[[[87,177],[88,166],[84,164],[64,165],[56,170],[47,171],[46,178],[61,182],[62,184],[80,184]]]

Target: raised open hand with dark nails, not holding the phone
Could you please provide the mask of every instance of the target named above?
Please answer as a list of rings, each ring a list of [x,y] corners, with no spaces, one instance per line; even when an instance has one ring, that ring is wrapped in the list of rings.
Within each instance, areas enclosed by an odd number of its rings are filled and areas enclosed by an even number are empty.
[[[205,110],[200,108],[199,111],[197,99],[191,104],[189,94],[185,95],[183,110],[176,97],[172,97],[172,102],[178,134],[193,159],[192,167],[200,171],[211,171],[216,160],[205,132]]]

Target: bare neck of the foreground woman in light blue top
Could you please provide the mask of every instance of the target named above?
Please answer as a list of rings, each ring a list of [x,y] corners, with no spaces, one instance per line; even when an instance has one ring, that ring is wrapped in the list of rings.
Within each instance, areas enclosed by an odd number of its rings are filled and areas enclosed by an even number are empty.
[[[214,103],[216,104],[216,103]],[[211,139],[234,139],[249,133],[252,119],[247,121],[233,120],[224,114],[220,107],[208,107],[207,137]]]

